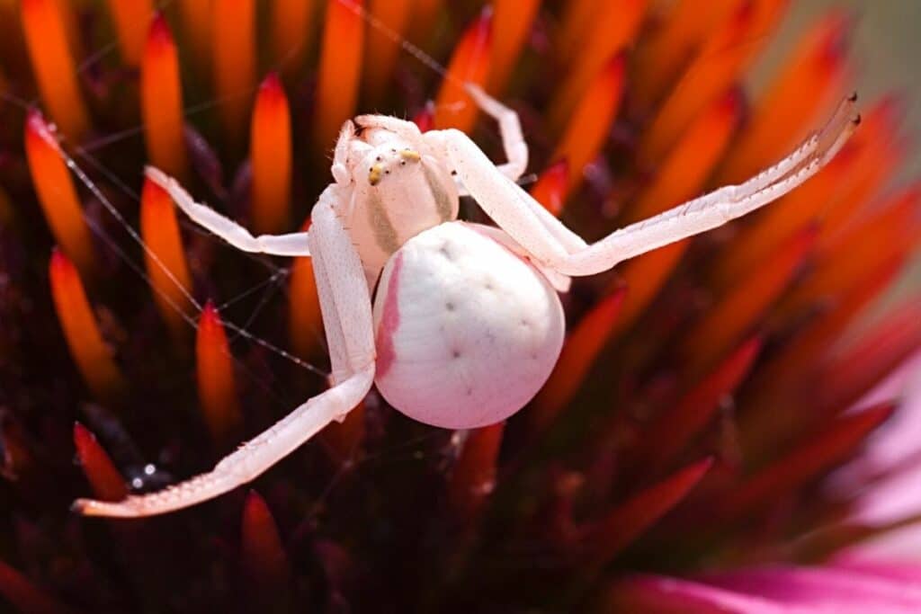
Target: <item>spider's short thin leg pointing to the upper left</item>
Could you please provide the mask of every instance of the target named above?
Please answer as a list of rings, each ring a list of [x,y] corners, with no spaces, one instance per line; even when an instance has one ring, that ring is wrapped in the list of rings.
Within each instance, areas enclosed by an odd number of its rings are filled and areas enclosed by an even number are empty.
[[[217,213],[211,207],[195,203],[189,192],[179,181],[169,177],[162,170],[146,168],[146,176],[158,186],[169,192],[174,203],[185,212],[192,221],[206,230],[223,238],[227,243],[243,251],[269,254],[271,256],[309,256],[306,232],[293,232],[287,235],[260,235],[253,237],[250,231],[233,220]]]

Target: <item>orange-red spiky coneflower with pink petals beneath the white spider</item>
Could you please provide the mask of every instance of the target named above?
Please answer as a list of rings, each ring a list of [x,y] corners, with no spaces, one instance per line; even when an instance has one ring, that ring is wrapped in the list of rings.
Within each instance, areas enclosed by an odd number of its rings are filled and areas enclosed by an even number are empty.
[[[12,608],[921,611],[921,565],[855,550],[915,520],[867,513],[914,468],[869,435],[909,408],[861,402],[921,346],[916,289],[880,300],[921,226],[894,95],[777,203],[578,279],[560,361],[507,423],[427,427],[372,391],[249,492],[71,514],[208,469],[327,387],[309,258],[227,249],[146,165],[296,230],[358,113],[498,159],[472,82],[519,111],[531,193],[593,239],[770,165],[855,73],[832,10],[746,91],[787,0],[156,4],[0,3]]]

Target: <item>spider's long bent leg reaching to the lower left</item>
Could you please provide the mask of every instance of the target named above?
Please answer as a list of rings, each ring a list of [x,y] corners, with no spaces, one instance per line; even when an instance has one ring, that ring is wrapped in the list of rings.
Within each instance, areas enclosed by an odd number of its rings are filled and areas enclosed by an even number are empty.
[[[314,271],[319,272],[323,324],[331,346],[332,388],[240,446],[208,473],[115,503],[80,499],[73,506],[76,512],[86,516],[154,516],[213,499],[253,480],[324,426],[342,420],[365,398],[375,373],[371,299],[358,255],[329,202],[336,187],[324,191],[309,231]]]

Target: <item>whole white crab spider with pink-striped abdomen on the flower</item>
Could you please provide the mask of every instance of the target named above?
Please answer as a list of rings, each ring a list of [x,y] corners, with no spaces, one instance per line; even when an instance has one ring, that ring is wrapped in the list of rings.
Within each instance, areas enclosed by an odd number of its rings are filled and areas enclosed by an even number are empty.
[[[821,132],[774,167],[588,245],[515,183],[528,163],[518,115],[477,87],[469,91],[499,124],[505,165],[496,167],[456,130],[423,134],[393,117],[358,117],[339,135],[335,181],[321,193],[307,232],[252,237],[147,168],[192,220],[231,245],[312,256],[332,388],[209,473],[117,503],[81,499],[78,512],[152,516],[231,491],[342,420],[374,383],[423,423],[460,429],[499,422],[553,369],[565,330],[556,292],[568,289],[570,275],[608,270],[775,200],[831,160],[859,122],[856,98],[848,98]],[[459,189],[498,227],[458,221]]]

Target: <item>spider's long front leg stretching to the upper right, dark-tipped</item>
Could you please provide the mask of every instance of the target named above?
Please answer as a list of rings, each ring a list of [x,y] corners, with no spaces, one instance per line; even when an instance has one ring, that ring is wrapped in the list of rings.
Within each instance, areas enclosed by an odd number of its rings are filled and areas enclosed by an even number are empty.
[[[565,275],[591,275],[620,261],[691,237],[748,214],[793,190],[825,166],[854,132],[856,98],[847,98],[821,132],[792,154],[740,185],[728,186],[626,226],[586,245],[540,203],[507,180],[470,137],[456,130],[426,133],[472,197],[495,223],[546,266]],[[580,245],[581,243],[581,245]]]

